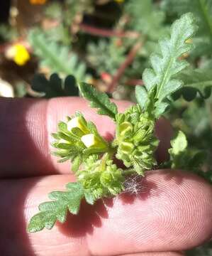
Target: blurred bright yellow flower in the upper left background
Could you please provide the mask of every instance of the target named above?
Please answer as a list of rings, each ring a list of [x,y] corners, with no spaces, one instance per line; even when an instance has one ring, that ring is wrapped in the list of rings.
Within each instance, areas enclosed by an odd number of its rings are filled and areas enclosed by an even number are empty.
[[[25,65],[30,60],[30,54],[25,46],[16,43],[6,51],[6,57],[12,59],[17,65]]]

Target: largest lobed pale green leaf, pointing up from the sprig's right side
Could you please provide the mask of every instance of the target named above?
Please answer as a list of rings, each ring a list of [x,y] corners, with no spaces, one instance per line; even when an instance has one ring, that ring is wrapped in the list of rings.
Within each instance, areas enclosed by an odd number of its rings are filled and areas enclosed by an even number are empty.
[[[159,117],[167,107],[164,100],[179,90],[183,82],[176,75],[189,65],[186,60],[180,59],[182,54],[193,48],[190,39],[196,32],[194,16],[191,13],[184,14],[172,24],[171,35],[159,42],[160,54],[152,54],[150,63],[152,69],[147,68],[143,73],[143,81],[148,95],[155,91],[155,116]],[[145,91],[137,89],[137,99],[144,107],[147,104]],[[141,100],[143,99],[143,100]]]

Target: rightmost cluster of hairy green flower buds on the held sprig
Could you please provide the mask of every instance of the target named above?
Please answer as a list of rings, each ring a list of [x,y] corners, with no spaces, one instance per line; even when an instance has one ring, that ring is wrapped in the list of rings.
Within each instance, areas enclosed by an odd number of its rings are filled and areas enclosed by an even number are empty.
[[[135,105],[118,115],[116,139],[118,146],[116,157],[123,164],[143,175],[143,171],[151,169],[156,163],[154,152],[158,140],[155,137],[155,122],[147,112],[142,112]]]

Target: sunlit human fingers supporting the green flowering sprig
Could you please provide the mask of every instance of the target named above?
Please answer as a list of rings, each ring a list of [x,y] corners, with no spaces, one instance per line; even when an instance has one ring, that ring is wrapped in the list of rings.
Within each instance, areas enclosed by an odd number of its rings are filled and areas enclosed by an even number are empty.
[[[120,102],[120,110],[128,107]],[[65,224],[29,234],[26,225],[52,190],[74,181],[69,164],[50,155],[50,133],[75,110],[101,134],[114,125],[79,98],[0,100],[0,252],[2,256],[182,255],[212,234],[212,188],[184,171],[150,171],[138,196],[121,195],[95,206],[82,205]],[[171,136],[164,120],[157,124],[165,156]],[[108,134],[107,134],[108,136]]]

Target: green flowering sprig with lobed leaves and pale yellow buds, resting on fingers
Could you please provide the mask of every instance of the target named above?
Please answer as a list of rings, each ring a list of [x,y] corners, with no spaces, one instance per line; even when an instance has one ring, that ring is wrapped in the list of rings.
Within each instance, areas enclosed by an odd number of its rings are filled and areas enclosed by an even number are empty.
[[[67,211],[79,212],[83,198],[94,204],[101,198],[116,196],[125,191],[125,180],[129,176],[145,176],[145,171],[157,167],[155,151],[159,140],[155,136],[155,122],[174,100],[173,93],[184,86],[182,72],[189,64],[181,56],[194,47],[188,40],[195,32],[194,16],[190,13],[173,23],[170,36],[159,42],[160,53],[150,58],[152,67],[143,73],[145,85],[136,87],[138,104],[123,113],[118,112],[116,104],[105,93],[87,83],[79,84],[81,95],[89,100],[90,106],[115,122],[115,138],[113,142],[106,142],[95,124],[80,112],[58,124],[58,131],[52,134],[55,148],[52,154],[59,157],[60,162],[72,162],[77,182],[68,183],[66,191],[49,194],[52,201],[40,204],[40,213],[34,215],[28,225],[29,232],[51,229],[57,220],[64,223]],[[184,168],[192,161],[199,166],[197,159],[201,159],[201,152],[187,149],[182,132],[171,145],[170,160],[164,166]],[[114,161],[115,157],[123,162],[122,168]]]

